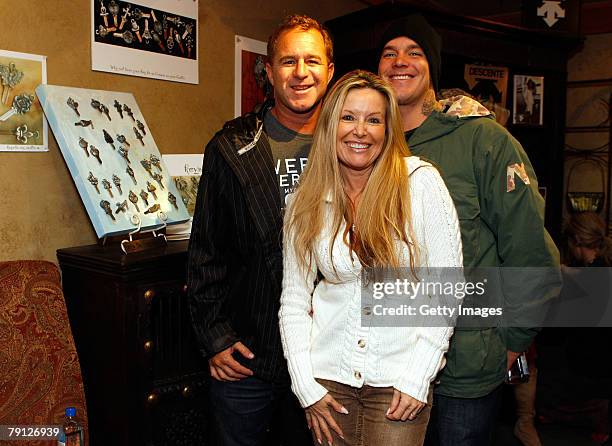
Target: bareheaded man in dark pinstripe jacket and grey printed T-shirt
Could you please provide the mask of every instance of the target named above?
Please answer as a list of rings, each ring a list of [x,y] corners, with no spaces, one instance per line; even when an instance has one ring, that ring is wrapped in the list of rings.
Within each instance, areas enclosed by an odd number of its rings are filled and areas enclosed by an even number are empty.
[[[275,100],[208,143],[189,246],[191,316],[222,445],[261,444],[273,423],[285,432],[281,443],[311,444],[278,328],[282,208],[333,75],[332,43],[315,20],[288,16],[268,56]]]

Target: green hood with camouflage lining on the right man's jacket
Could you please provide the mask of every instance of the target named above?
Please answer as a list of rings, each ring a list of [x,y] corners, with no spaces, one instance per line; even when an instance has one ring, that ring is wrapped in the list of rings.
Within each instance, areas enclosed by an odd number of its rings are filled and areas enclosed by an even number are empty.
[[[468,96],[452,96],[438,101],[441,111],[433,111],[431,115],[417,128],[410,138],[410,146],[416,146],[432,139],[439,138],[466,123],[480,118],[495,120],[491,113],[480,102]]]

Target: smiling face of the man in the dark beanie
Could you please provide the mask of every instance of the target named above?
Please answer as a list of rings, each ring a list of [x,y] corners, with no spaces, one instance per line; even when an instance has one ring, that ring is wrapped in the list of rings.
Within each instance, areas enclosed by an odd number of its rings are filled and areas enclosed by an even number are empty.
[[[423,105],[431,77],[425,53],[414,40],[397,37],[387,42],[378,62],[378,74],[395,90],[398,105]]]

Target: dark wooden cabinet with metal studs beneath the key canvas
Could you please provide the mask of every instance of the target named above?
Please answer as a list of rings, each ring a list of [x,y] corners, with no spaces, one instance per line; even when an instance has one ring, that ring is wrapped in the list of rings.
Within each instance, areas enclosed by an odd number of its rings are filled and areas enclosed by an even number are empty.
[[[206,362],[186,302],[187,242],[129,255],[82,246],[57,257],[91,445],[211,444]]]

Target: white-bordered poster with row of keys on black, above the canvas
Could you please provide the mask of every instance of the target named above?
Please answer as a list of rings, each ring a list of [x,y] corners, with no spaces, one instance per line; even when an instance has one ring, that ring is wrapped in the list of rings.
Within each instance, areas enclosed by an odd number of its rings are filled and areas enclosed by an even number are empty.
[[[198,0],[91,1],[91,68],[198,83]]]

